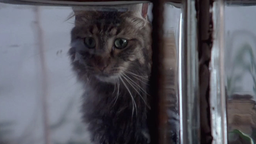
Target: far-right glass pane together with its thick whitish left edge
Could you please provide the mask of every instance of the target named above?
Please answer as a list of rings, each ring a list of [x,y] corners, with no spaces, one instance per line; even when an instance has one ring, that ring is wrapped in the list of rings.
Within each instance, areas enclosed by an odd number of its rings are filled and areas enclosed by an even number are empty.
[[[212,132],[214,143],[256,142],[255,1],[219,0],[214,5]],[[214,102],[217,102],[214,104]]]

